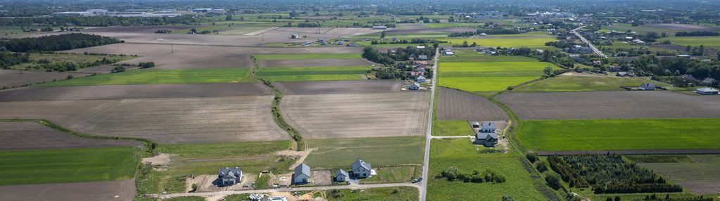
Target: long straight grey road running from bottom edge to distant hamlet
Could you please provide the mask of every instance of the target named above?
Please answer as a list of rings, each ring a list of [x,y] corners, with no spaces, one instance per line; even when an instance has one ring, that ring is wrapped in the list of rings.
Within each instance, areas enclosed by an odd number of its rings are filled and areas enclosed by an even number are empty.
[[[428,132],[425,135],[425,159],[423,159],[423,181],[420,182],[420,201],[425,201],[428,193],[428,164],[430,164],[430,141],[433,139],[433,105],[435,104],[435,88],[438,86],[438,58],[440,57],[440,48],[435,50],[435,63],[433,64],[433,88],[430,94],[430,111],[428,115]]]

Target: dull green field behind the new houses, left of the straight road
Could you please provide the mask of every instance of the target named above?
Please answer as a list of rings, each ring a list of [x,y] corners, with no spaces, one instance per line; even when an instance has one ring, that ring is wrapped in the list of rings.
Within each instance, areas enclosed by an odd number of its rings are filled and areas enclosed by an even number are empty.
[[[373,167],[423,162],[423,137],[385,137],[363,139],[309,139],[307,149],[315,149],[305,159],[310,167],[348,168],[358,158]]]

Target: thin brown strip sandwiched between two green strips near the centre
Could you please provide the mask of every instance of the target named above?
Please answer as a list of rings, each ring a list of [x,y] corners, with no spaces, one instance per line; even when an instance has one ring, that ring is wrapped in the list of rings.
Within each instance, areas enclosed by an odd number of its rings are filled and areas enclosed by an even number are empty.
[[[369,66],[375,64],[364,59],[357,60],[261,60],[260,67],[302,66]]]

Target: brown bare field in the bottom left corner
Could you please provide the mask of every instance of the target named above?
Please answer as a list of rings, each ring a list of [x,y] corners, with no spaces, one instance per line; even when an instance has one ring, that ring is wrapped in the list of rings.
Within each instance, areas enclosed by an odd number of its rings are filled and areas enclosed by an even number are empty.
[[[124,201],[134,197],[134,180],[0,186],[0,200]]]

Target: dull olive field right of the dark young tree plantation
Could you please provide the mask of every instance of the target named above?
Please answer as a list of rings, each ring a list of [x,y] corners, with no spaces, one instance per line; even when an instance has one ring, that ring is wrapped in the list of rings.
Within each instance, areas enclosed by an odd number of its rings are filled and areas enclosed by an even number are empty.
[[[662,174],[670,181],[699,194],[720,192],[719,155],[660,155],[646,156],[651,160],[635,161],[642,167]],[[631,160],[632,157],[629,157]],[[659,158],[660,160],[653,160]],[[663,160],[663,158],[674,158]]]

